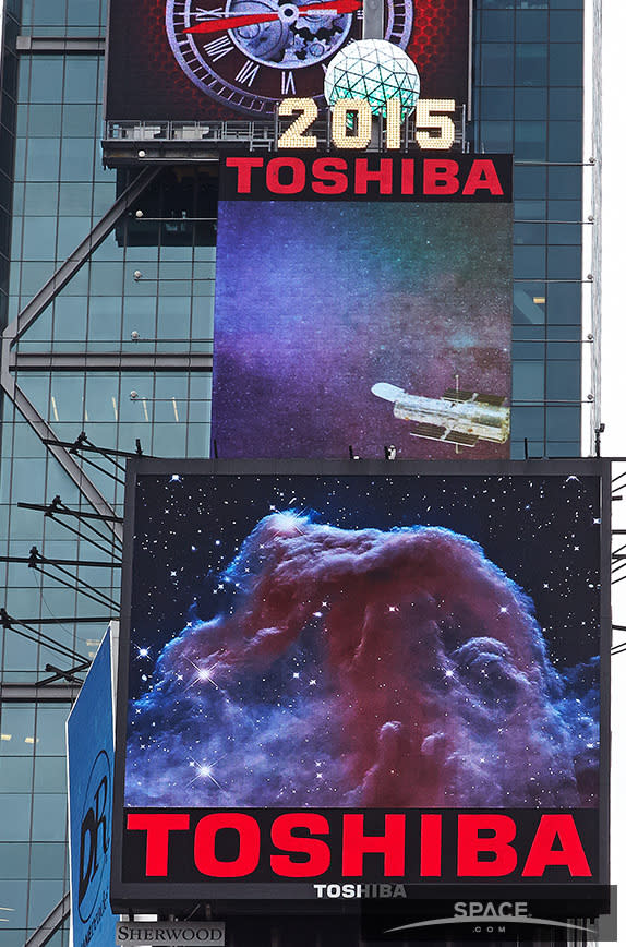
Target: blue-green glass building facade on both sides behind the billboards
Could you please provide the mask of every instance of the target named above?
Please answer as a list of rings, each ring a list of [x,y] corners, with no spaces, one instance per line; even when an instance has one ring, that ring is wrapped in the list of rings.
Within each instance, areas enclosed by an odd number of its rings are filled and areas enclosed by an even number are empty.
[[[119,458],[43,441],[85,432],[106,449],[132,453],[139,441],[156,456],[210,453],[216,170],[174,167],[147,180],[148,171],[136,184],[136,170],[103,167],[106,16],[106,0],[4,2],[0,316],[16,341],[3,349],[1,549],[27,559],[35,546],[48,560],[83,563],[68,568],[91,595],[60,585],[40,559],[0,562],[7,947],[22,947],[61,904],[57,923],[69,887],[64,721],[75,686],[37,682],[53,678],[47,664],[68,670],[93,657],[119,599],[113,520],[19,505],[59,496],[73,511],[121,516]],[[514,458],[578,456],[589,410],[582,37],[582,0],[474,4],[470,141],[516,160]],[[63,264],[63,288],[45,292]],[[65,921],[49,943],[68,937]]]

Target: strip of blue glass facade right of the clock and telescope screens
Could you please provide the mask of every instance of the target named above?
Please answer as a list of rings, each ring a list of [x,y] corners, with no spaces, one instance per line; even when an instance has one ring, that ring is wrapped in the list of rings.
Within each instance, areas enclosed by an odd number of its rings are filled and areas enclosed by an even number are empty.
[[[515,156],[511,456],[578,456],[582,0],[479,0],[474,24],[474,148]]]

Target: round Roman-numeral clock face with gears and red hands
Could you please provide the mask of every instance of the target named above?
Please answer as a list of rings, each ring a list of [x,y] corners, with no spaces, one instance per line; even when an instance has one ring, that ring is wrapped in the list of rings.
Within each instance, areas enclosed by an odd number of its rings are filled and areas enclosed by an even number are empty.
[[[324,105],[330,59],[362,34],[362,0],[167,0],[177,61],[212,98],[273,117],[286,97]],[[387,0],[385,39],[406,48],[412,0]]]

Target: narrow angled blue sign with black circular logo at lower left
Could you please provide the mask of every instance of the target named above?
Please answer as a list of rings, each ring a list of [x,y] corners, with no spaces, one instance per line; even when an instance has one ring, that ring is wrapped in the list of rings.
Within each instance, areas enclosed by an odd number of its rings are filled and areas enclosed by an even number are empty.
[[[74,947],[111,947],[109,903],[113,792],[110,630],[68,718],[70,890]]]

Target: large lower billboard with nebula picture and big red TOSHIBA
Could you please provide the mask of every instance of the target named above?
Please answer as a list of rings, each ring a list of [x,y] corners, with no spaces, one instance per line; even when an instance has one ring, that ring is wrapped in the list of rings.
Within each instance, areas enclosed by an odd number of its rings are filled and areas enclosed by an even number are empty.
[[[605,884],[602,474],[133,461],[113,904]]]

